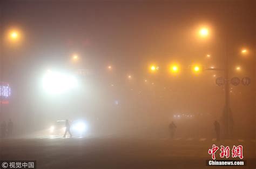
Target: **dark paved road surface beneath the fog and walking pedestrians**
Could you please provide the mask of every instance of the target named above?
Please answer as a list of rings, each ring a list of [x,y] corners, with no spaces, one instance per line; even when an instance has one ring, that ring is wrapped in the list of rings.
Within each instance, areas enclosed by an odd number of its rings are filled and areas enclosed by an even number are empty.
[[[207,167],[212,144],[244,146],[246,167],[256,168],[255,140],[206,138],[37,137],[2,139],[2,160],[37,160],[37,168],[221,168]],[[226,167],[225,167],[226,168]],[[236,168],[236,167],[230,167]]]

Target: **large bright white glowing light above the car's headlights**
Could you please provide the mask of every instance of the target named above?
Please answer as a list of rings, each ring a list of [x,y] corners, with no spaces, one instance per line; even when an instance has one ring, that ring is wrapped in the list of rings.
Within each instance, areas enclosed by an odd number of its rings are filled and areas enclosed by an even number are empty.
[[[72,75],[48,70],[43,77],[43,89],[49,94],[60,94],[77,87],[77,79]]]

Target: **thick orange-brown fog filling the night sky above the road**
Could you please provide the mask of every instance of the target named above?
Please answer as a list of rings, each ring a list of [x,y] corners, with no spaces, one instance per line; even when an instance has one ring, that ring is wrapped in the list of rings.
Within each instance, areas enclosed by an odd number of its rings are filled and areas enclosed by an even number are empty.
[[[88,132],[96,134],[165,137],[174,121],[177,137],[212,136],[215,120],[221,129],[224,125],[225,87],[215,79],[225,75],[206,70],[194,75],[191,66],[200,64],[228,69],[229,79],[251,78],[250,85],[230,84],[228,90],[232,137],[255,138],[251,3],[4,1],[0,9],[2,36],[11,28],[22,35],[15,44],[3,38],[0,46],[0,81],[11,87],[0,122],[12,119],[16,133],[44,131],[56,120],[84,119]],[[211,35],[198,38],[205,25]],[[241,55],[242,48],[248,55]],[[77,63],[71,61],[73,53]],[[171,63],[180,65],[176,76],[168,70]],[[159,66],[156,73],[149,70],[152,64]],[[77,73],[80,69],[86,75]],[[47,70],[71,73],[77,87],[45,92]]]

